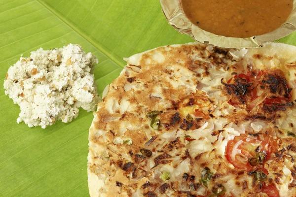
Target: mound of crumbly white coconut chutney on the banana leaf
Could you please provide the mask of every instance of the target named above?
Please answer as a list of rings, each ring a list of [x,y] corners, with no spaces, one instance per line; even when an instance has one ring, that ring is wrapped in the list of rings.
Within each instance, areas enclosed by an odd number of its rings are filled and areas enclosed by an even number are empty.
[[[5,95],[20,106],[17,123],[46,126],[58,120],[71,122],[79,107],[95,111],[101,100],[94,74],[98,59],[81,46],[31,52],[10,66],[4,81]]]

